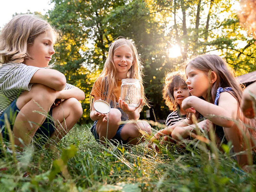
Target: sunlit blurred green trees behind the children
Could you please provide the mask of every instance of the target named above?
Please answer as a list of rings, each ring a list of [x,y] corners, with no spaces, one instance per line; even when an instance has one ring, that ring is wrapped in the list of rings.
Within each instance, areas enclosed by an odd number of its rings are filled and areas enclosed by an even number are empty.
[[[165,119],[165,73],[180,69],[192,55],[225,58],[236,75],[255,70],[255,44],[241,28],[236,0],[52,0],[48,21],[62,31],[54,55],[68,83],[86,95],[80,123],[90,121],[89,95],[119,36],[132,38],[144,65],[144,87],[152,105],[150,119]],[[146,118],[145,110],[141,119]]]

